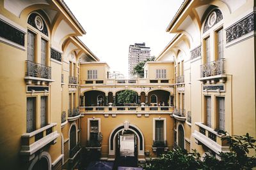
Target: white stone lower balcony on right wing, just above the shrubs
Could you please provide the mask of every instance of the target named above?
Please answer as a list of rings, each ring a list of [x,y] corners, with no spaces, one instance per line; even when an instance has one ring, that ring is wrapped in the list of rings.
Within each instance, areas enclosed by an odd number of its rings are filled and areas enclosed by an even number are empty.
[[[206,125],[196,122],[196,130],[192,136],[196,139],[198,145],[205,145],[217,154],[220,152],[229,152],[229,146],[227,141],[223,140],[224,134],[218,134],[218,132],[207,127]]]

